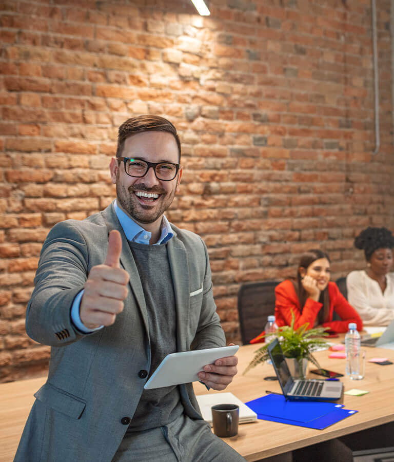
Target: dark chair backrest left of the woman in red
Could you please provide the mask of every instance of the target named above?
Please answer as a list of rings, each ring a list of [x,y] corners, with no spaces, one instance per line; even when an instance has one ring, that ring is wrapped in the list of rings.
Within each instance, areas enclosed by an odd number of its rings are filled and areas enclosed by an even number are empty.
[[[265,327],[275,311],[275,287],[279,281],[243,284],[238,292],[238,316],[242,343],[249,343]]]

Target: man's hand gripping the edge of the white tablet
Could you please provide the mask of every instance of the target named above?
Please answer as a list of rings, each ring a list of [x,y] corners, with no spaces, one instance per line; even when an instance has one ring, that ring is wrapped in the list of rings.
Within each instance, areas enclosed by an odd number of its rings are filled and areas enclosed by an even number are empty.
[[[229,343],[229,346],[234,343]],[[232,378],[237,374],[237,356],[227,356],[227,358],[216,359],[214,364],[204,366],[204,372],[199,372],[198,376],[207,387],[213,390],[224,390]]]

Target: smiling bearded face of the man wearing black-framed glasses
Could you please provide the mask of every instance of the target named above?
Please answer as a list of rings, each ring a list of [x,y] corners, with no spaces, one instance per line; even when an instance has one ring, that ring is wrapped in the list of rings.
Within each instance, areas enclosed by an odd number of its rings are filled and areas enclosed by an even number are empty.
[[[144,131],[125,140],[122,157],[138,158],[148,162],[179,162],[178,145],[171,133]],[[171,181],[158,180],[153,168],[141,178],[130,177],[124,163],[112,159],[111,180],[116,184],[118,204],[152,234],[160,230],[162,216],[171,205],[175,192],[179,190],[182,167]]]

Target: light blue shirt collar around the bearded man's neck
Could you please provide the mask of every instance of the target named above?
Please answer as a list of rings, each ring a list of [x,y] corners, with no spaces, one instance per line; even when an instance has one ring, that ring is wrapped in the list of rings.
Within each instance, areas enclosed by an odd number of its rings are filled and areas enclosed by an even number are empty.
[[[126,235],[126,238],[129,241],[137,242],[139,244],[149,244],[149,240],[152,236],[152,233],[145,230],[142,226],[135,223],[135,221],[129,217],[119,205],[117,205],[116,199],[113,202],[113,208],[117,219],[121,223],[123,231]],[[165,215],[162,218],[162,224],[160,225],[161,235],[159,240],[154,245],[165,244],[168,240],[174,235],[170,222],[167,220]]]

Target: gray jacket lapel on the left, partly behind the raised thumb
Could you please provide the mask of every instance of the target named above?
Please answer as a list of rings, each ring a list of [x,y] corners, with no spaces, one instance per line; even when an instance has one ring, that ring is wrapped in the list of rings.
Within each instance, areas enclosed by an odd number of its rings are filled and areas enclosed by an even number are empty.
[[[112,204],[110,204],[105,210],[103,210],[103,215],[107,223],[108,234],[112,229],[117,229],[121,233],[122,253],[120,262],[130,276],[129,284],[131,286],[131,290],[134,294],[137,304],[140,306],[141,315],[144,320],[145,329],[149,338],[148,314],[146,310],[144,291],[141,284],[140,274],[135,264],[133,254],[130,250],[129,242],[125,236],[125,233],[123,232],[123,228],[119,223],[119,220],[116,217]]]

